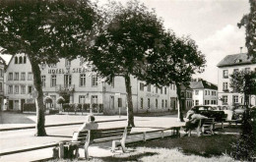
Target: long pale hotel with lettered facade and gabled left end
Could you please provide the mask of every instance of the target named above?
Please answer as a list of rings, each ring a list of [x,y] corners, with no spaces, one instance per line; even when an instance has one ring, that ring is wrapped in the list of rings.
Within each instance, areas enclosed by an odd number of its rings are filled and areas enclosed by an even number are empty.
[[[72,61],[60,59],[57,64],[41,64],[41,81],[44,96],[53,100],[65,94],[69,103],[100,104],[104,114],[126,113],[126,89],[124,79],[115,77],[111,83],[100,79],[84,66],[81,57]],[[34,102],[32,67],[25,54],[11,59],[6,70],[5,92],[9,110],[23,111],[23,104]],[[135,113],[164,112],[176,108],[175,85],[156,87],[147,85],[131,76],[132,99]],[[67,97],[68,96],[68,97]]]

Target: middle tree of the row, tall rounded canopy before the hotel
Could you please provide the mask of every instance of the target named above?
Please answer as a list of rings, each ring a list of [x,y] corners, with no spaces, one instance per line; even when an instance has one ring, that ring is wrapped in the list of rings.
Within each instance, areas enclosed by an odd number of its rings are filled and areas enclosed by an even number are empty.
[[[114,12],[104,17],[104,26],[90,52],[91,60],[98,74],[107,81],[115,76],[124,78],[128,126],[135,126],[131,76],[139,78],[144,74],[145,56],[155,48],[163,27],[156,13],[138,1],[129,1],[127,7],[112,3],[110,9]]]

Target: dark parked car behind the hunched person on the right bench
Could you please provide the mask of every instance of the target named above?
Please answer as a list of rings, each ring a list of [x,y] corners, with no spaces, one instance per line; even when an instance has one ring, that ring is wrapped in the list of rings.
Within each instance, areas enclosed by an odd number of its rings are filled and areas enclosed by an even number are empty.
[[[190,110],[193,110],[196,114],[201,114],[208,118],[215,118],[216,122],[222,122],[226,117],[224,111],[217,110],[216,107],[210,105],[197,105],[193,106]]]

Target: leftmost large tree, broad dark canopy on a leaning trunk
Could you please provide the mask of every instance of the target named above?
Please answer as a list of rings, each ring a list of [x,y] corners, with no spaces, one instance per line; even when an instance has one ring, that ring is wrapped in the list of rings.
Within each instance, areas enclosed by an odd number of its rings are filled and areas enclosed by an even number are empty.
[[[31,61],[38,94],[35,135],[46,135],[39,64],[84,55],[96,20],[95,6],[87,0],[0,1],[2,53],[25,53]]]

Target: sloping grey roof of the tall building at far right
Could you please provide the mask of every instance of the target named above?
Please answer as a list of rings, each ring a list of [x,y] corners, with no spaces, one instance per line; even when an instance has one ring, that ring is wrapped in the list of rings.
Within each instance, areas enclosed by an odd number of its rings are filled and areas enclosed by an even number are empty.
[[[253,64],[252,57],[248,57],[246,53],[239,53],[225,56],[224,59],[217,65],[217,67],[228,67],[246,64]]]

